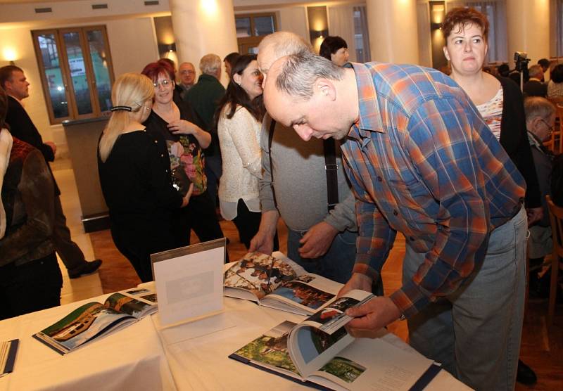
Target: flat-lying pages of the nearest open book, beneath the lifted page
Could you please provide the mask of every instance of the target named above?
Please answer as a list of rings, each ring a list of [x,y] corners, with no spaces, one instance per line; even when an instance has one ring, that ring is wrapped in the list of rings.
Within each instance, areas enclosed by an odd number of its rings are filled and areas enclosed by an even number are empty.
[[[296,326],[284,321],[229,358],[294,381],[311,382],[331,390],[358,391],[409,390],[433,364],[422,355],[401,350],[381,338],[354,339],[344,328],[333,335],[316,330],[315,349],[326,357],[324,364],[306,374],[291,359],[294,347],[289,345],[289,335]],[[339,348],[329,352],[337,344]]]

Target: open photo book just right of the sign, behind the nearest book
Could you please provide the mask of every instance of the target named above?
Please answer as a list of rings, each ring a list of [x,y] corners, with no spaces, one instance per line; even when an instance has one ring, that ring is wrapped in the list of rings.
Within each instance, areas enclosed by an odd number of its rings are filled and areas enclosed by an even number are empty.
[[[310,315],[333,300],[341,283],[308,273],[281,252],[250,252],[225,271],[224,295]]]

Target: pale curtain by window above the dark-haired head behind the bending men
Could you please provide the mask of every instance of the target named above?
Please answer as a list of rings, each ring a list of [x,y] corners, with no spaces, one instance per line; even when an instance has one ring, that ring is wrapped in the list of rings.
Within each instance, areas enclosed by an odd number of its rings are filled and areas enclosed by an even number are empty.
[[[350,61],[367,63],[371,60],[365,6],[329,6],[329,34],[346,41]]]

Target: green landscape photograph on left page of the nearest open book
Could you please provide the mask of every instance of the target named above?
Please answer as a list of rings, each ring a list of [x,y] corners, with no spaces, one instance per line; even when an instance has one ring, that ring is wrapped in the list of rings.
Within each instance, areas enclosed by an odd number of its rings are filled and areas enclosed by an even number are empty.
[[[267,331],[260,338],[256,338],[248,345],[241,347],[234,354],[298,374],[297,368],[293,365],[287,351],[289,331],[295,325],[296,323],[284,321],[284,323],[280,323],[272,330]]]

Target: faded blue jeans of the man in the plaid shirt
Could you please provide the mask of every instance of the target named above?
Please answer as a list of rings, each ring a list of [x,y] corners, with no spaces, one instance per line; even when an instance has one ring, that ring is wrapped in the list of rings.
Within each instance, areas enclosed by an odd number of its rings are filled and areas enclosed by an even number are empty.
[[[475,390],[513,390],[526,287],[524,207],[489,238],[485,259],[454,293],[408,319],[409,342]],[[403,283],[424,262],[407,245]]]

